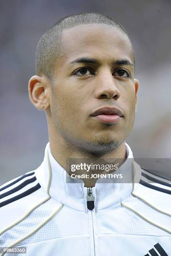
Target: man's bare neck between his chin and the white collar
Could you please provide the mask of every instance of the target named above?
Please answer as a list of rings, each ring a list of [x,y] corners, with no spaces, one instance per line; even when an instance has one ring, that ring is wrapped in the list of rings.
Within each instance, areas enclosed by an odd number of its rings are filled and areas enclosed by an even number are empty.
[[[97,164],[98,160],[102,159],[112,159],[112,164],[119,162],[119,166],[123,164],[126,160],[126,146],[125,141],[118,146],[117,148],[110,149],[108,151],[103,151],[100,153],[89,153],[86,150],[78,148],[73,143],[66,141],[60,134],[51,134],[49,133],[49,142],[51,154],[54,156],[54,159],[66,170],[66,172],[71,175],[71,171],[67,168],[67,159],[94,159]],[[110,161],[105,163],[111,164]],[[85,171],[86,172],[86,171]],[[107,172],[108,174],[112,173],[113,170]],[[83,171],[81,171],[81,174]],[[94,172],[89,170],[89,175],[91,176]],[[104,171],[100,172],[104,173]],[[80,174],[80,171],[79,171]],[[82,178],[84,181],[84,187],[94,187],[97,179],[87,179]]]

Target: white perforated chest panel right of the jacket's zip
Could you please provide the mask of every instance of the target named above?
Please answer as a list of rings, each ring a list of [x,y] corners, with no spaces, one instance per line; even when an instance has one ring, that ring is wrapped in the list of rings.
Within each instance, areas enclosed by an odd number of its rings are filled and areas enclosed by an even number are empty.
[[[146,208],[146,210],[151,209]],[[167,221],[169,222],[168,218]],[[131,210],[121,207],[120,203],[98,211],[97,226],[101,234],[170,236],[169,233],[143,220]]]

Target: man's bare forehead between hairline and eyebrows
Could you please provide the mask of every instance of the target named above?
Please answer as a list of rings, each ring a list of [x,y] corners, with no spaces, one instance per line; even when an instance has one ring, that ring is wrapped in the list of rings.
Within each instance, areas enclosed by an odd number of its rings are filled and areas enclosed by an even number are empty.
[[[92,56],[101,60],[129,59],[133,51],[128,36],[106,24],[83,24],[63,31],[62,56],[72,61],[76,57]]]

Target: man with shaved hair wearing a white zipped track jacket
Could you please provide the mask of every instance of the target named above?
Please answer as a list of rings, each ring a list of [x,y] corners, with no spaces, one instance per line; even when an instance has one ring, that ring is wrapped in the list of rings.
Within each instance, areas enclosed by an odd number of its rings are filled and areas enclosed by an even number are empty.
[[[171,255],[171,184],[141,169],[125,143],[134,64],[125,29],[99,13],[66,17],[41,37],[28,91],[46,112],[49,143],[38,169],[0,189],[1,247],[26,247],[29,256]],[[108,174],[133,181],[67,182],[68,159],[121,159]]]

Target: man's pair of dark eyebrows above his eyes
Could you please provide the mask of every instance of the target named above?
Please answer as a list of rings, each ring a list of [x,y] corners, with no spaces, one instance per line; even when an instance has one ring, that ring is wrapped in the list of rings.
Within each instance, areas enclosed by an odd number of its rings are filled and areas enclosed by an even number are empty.
[[[71,65],[76,64],[76,63],[100,64],[100,61],[98,59],[83,57],[83,58],[77,58],[77,59],[69,62],[69,64],[71,64]],[[112,64],[113,65],[130,65],[130,66],[133,66],[133,63],[131,61],[129,61],[128,59],[116,60],[116,61],[113,61]]]

